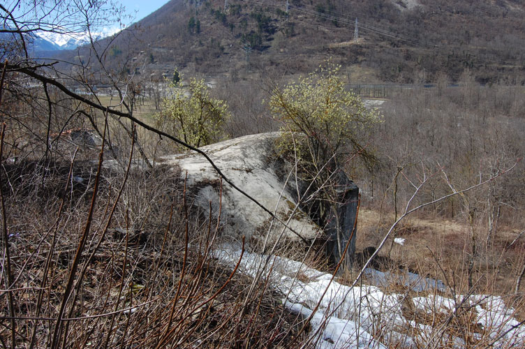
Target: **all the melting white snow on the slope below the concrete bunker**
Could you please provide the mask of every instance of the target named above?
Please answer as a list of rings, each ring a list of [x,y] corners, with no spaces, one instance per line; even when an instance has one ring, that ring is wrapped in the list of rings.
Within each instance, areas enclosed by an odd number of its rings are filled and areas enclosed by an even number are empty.
[[[228,265],[236,265],[241,252],[224,248],[214,256]],[[267,272],[268,270],[272,272]],[[404,318],[401,305],[412,302],[416,311],[441,312],[449,315],[459,304],[475,309],[476,323],[494,341],[493,348],[525,348],[525,326],[512,317],[514,310],[496,296],[458,296],[457,300],[441,295],[409,297],[406,294],[387,295],[373,285],[350,287],[337,282],[331,274],[306,267],[302,262],[274,255],[245,252],[239,270],[255,277],[258,272],[279,290],[286,299],[283,304],[293,313],[311,320],[311,341],[316,348],[417,348],[436,341],[436,329]],[[369,276],[392,282],[394,275],[369,269]],[[407,285],[415,290],[435,288],[446,290],[441,281],[406,274]],[[399,279],[399,275],[395,276]],[[313,309],[317,309],[313,311]],[[408,332],[407,332],[407,329]],[[379,334],[381,340],[372,334]],[[478,335],[478,334],[476,334]],[[481,336],[479,334],[478,336]],[[454,348],[465,346],[463,339],[451,338]]]

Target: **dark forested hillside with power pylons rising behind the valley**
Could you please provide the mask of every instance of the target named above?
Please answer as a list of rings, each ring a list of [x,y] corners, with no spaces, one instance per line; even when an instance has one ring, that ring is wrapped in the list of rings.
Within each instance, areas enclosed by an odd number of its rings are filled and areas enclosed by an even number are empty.
[[[522,1],[292,0],[288,11],[286,3],[169,1],[114,39],[106,64],[238,77],[304,73],[333,57],[356,82],[457,81],[466,69],[482,84],[525,82]],[[75,57],[88,61],[84,51]]]

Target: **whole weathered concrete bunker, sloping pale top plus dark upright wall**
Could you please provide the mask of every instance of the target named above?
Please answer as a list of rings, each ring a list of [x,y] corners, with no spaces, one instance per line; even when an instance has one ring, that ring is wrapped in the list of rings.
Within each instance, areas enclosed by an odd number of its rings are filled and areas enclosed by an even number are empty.
[[[345,269],[344,267],[351,265],[355,253],[356,232],[353,230],[359,188],[343,171],[337,170],[333,174],[334,203],[330,207],[330,214],[324,218],[325,221],[313,221],[296,206],[297,198],[301,197],[309,197],[310,203],[315,202],[316,198],[312,199],[311,195],[316,193],[317,189],[309,188],[308,193],[304,193],[309,183],[295,178],[293,163],[276,156],[275,141],[279,135],[280,133],[247,135],[200,149],[212,158],[230,181],[273,211],[281,221],[287,222],[286,227],[225,182],[222,185],[222,197],[219,198],[219,175],[204,156],[196,152],[177,154],[166,156],[161,163],[176,168],[177,171],[181,170],[177,172],[180,173],[181,179],[186,178],[187,174],[186,187],[193,198],[193,204],[203,211],[209,211],[211,202],[214,218],[219,215],[219,202],[222,199],[223,235],[230,235],[236,239],[244,235],[248,241],[255,238],[259,242],[263,241],[267,234],[270,242],[275,242],[281,237],[307,241],[320,238],[319,241],[325,242],[327,256],[334,264],[339,262],[350,241],[341,270]]]

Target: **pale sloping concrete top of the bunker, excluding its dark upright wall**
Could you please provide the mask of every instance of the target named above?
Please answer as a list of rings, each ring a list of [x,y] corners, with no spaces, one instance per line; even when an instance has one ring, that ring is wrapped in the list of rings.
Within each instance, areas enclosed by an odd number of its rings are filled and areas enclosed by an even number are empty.
[[[295,206],[297,202],[287,186],[287,175],[282,173],[283,164],[273,151],[274,140],[279,133],[247,135],[233,140],[226,140],[202,147],[202,151],[212,158],[228,179],[255,198],[287,226],[304,239],[314,239],[320,232],[316,223]],[[214,216],[219,214],[219,175],[209,162],[200,154],[190,152],[166,156],[161,163],[180,168],[182,179],[187,173],[187,187],[193,193],[195,204],[203,210],[209,210],[212,202]],[[277,166],[281,170],[277,170]],[[289,166],[291,168],[291,166]],[[277,174],[279,172],[280,174]],[[271,241],[275,241],[283,232],[283,237],[300,239],[288,228],[272,219],[256,203],[246,198],[227,183],[222,186],[221,225],[223,234],[232,237],[246,236],[247,239],[265,237],[269,232]],[[271,228],[270,228],[271,226]],[[284,228],[284,229],[283,229]]]

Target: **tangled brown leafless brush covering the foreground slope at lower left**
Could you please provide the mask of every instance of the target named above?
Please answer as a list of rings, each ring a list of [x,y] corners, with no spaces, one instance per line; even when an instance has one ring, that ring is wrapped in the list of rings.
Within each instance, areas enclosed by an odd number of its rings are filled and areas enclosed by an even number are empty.
[[[219,224],[193,214],[177,170],[112,163],[96,186],[96,167],[73,166],[75,181],[54,168],[2,170],[4,347],[268,348],[302,327],[269,285],[247,297],[252,280],[216,261]]]

